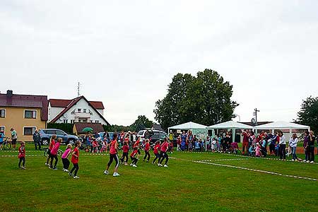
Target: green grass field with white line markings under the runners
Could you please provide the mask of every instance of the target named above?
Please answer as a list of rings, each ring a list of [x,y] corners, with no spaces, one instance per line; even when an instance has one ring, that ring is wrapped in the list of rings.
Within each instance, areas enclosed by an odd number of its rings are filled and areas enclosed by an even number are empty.
[[[73,179],[31,148],[27,170],[16,152],[0,151],[0,211],[318,211],[317,163],[173,153],[167,168],[139,160],[112,177],[107,155],[81,152]]]

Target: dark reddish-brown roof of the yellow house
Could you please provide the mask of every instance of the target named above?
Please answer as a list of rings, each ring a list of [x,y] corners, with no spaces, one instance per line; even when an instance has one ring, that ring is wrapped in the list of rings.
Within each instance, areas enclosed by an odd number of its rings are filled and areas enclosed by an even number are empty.
[[[47,121],[47,119],[48,119],[47,95],[13,94],[11,97],[8,97],[6,94],[0,94],[0,107],[40,108],[42,121]]]

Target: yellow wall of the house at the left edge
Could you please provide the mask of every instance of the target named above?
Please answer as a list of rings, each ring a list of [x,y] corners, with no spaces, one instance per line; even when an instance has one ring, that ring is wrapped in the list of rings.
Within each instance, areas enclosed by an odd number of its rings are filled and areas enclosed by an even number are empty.
[[[6,137],[11,137],[10,129],[13,128],[18,133],[18,141],[33,141],[33,136],[23,135],[24,126],[34,126],[36,129],[45,129],[45,121],[41,120],[41,110],[40,108],[32,107],[0,107],[0,109],[6,110],[6,117],[0,118],[0,126],[5,127]],[[36,110],[36,119],[25,119],[25,110]]]

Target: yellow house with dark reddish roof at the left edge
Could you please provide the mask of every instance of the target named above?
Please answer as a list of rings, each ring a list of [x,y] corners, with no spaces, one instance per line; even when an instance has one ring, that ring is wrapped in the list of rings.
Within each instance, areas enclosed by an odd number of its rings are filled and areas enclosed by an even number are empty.
[[[7,90],[0,94],[0,131],[11,137],[13,128],[18,141],[33,141],[35,129],[46,128],[47,108],[46,95],[16,95]]]

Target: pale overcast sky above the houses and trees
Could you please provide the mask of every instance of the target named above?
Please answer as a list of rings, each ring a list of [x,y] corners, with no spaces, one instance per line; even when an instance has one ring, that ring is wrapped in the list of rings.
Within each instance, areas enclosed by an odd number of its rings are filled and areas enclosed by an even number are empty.
[[[291,121],[317,63],[316,0],[0,1],[1,93],[75,98],[80,81],[111,124],[154,119],[172,76],[204,69],[233,85],[242,121],[255,107]]]

